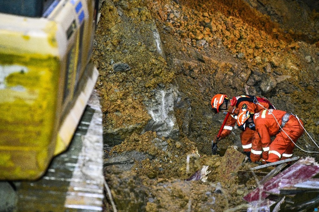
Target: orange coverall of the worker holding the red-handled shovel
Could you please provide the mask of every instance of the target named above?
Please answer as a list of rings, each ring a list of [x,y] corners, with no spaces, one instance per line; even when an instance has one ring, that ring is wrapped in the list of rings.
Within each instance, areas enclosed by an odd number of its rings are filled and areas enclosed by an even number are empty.
[[[231,113],[231,115],[228,117],[226,124],[223,128],[223,131],[220,134],[220,138],[225,138],[226,136],[228,136],[231,133],[233,127],[236,124],[236,117],[234,118],[234,116],[237,116],[242,111],[249,110],[253,113],[258,113],[259,111],[264,110],[263,107],[265,107],[266,109],[268,109],[270,107],[269,103],[266,103],[266,102],[259,102],[259,104],[261,104],[263,106],[262,107],[258,104],[250,102],[250,101],[240,101],[240,98],[242,98],[242,97],[247,97],[247,96],[241,95],[241,96],[236,97],[239,104],[237,105],[237,108],[233,111],[233,113]],[[259,98],[259,97],[257,97],[257,98]],[[230,100],[231,104],[232,104],[232,100]],[[245,131],[240,133],[241,145],[242,145],[244,152],[250,152],[251,142],[252,142],[252,138],[253,138],[254,133],[255,133],[255,131],[249,129],[248,127],[246,128]]]

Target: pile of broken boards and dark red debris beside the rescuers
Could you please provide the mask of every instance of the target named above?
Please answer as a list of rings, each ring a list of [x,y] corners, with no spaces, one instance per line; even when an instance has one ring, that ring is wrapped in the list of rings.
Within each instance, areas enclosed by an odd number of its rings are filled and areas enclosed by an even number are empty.
[[[313,210],[319,204],[319,164],[314,158],[302,158],[270,179],[258,182],[258,187],[243,199],[249,202],[248,211]]]

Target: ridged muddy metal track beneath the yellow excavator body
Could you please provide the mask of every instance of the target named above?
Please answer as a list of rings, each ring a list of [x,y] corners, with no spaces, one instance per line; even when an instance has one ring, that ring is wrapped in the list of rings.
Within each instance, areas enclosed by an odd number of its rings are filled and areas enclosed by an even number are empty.
[[[102,113],[91,94],[69,148],[37,181],[0,182],[0,211],[102,211]]]

